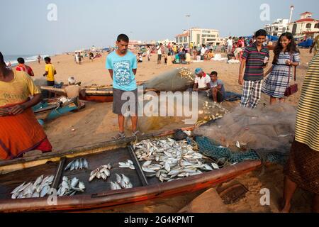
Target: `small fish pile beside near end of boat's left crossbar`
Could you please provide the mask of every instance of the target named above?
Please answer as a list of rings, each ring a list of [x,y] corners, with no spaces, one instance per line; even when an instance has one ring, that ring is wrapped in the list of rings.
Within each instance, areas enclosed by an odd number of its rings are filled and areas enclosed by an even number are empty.
[[[57,189],[57,196],[72,196],[77,192],[84,192],[85,185],[77,177],[69,179],[62,177],[62,183]]]

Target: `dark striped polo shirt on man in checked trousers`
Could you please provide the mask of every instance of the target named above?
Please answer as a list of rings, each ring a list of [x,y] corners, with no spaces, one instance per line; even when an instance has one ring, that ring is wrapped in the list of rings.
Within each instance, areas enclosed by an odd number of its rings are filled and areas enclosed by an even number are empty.
[[[246,68],[244,80],[262,80],[264,78],[264,58],[269,59],[269,50],[266,46],[262,46],[260,52],[256,43],[245,48],[242,59],[246,60]]]

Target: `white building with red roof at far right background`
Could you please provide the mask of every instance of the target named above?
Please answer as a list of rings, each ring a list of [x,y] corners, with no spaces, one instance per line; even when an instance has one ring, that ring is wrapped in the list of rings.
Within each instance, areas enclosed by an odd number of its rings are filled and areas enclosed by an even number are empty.
[[[301,13],[298,21],[289,23],[287,31],[292,33],[295,38],[311,37],[314,38],[319,33],[319,20],[311,18],[313,13]]]

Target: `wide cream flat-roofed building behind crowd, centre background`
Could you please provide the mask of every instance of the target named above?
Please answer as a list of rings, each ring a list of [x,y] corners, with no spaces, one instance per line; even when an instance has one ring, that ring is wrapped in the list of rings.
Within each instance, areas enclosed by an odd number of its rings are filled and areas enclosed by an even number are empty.
[[[215,29],[191,28],[189,31],[176,35],[175,40],[177,45],[189,45],[189,43],[194,43],[194,45],[220,44],[219,31]]]

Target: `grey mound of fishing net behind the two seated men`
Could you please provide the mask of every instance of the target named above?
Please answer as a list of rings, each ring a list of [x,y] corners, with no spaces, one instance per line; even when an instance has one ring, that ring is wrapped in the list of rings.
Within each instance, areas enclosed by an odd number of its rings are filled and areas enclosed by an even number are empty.
[[[187,67],[181,67],[163,74],[145,82],[145,89],[157,89],[159,91],[176,92],[185,91],[191,84],[194,84],[195,74]]]

